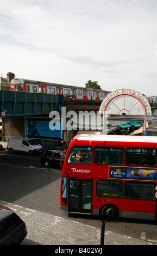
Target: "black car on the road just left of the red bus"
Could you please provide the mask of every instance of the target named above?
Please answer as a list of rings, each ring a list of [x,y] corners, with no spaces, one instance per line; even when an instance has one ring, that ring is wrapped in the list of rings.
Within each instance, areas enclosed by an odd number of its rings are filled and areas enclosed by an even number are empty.
[[[63,156],[62,156],[63,154]],[[66,151],[61,151],[61,150],[54,150],[54,149],[47,149],[43,155],[40,157],[40,162],[44,164],[46,167],[49,166],[56,166],[60,167],[61,163],[61,157],[62,157],[62,163],[64,163]]]

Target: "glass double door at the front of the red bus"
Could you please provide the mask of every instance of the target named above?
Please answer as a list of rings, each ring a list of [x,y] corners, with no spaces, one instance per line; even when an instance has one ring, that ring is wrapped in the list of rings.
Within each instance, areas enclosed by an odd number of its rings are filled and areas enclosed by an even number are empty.
[[[68,205],[70,212],[92,213],[92,180],[70,179]]]

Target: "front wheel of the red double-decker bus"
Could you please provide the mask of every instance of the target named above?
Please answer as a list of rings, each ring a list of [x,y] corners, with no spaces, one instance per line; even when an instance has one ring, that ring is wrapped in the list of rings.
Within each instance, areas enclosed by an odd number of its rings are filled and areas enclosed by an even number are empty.
[[[118,209],[115,205],[106,204],[102,209],[102,216],[106,220],[114,220],[118,217]]]

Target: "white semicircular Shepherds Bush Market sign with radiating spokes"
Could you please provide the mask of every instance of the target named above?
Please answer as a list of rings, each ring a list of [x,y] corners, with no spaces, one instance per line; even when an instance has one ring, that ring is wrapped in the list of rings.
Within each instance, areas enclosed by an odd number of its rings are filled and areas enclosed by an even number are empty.
[[[152,115],[151,107],[145,95],[133,89],[118,89],[104,98],[99,108],[99,114],[103,114],[106,107],[108,114],[143,115],[144,110],[141,102],[145,106],[147,115]]]

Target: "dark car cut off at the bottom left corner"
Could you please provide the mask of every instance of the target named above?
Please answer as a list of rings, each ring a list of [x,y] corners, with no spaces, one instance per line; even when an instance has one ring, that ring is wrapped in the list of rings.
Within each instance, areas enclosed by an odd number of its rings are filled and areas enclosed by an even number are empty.
[[[20,245],[26,236],[27,227],[21,218],[0,205],[0,245]]]

